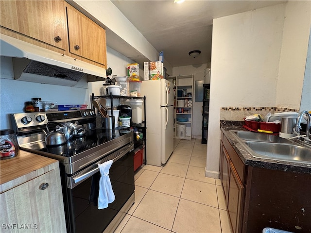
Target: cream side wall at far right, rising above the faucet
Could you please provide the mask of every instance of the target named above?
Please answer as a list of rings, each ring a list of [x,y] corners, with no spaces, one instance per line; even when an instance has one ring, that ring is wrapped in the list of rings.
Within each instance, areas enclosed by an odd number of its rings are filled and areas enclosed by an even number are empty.
[[[311,26],[311,1],[288,1],[276,89],[276,106],[299,109]],[[287,95],[284,95],[287,93]],[[294,93],[294,95],[292,95]]]

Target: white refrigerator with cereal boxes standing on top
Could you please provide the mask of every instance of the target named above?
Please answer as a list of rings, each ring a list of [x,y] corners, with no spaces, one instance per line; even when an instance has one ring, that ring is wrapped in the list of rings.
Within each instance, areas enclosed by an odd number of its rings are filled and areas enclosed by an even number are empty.
[[[146,96],[146,162],[161,166],[173,153],[173,83],[166,79],[142,81],[140,96]]]

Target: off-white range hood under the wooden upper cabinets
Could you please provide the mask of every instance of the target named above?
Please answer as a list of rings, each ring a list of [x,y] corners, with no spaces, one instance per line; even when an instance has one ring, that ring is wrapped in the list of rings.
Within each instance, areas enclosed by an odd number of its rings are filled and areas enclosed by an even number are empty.
[[[12,57],[14,79],[35,83],[74,86],[83,77],[88,82],[103,81],[102,67],[0,34],[0,55]]]

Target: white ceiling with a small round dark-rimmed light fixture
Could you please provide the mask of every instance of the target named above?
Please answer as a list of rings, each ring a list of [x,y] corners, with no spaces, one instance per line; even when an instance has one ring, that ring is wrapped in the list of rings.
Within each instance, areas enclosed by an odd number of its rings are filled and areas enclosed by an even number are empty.
[[[213,18],[251,11],[283,0],[111,0],[172,67],[210,63]],[[201,50],[192,58],[191,50]]]

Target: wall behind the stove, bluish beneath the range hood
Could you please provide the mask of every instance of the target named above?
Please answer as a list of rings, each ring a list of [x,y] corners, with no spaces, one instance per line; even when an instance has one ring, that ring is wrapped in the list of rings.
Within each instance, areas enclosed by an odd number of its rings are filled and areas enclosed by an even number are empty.
[[[132,60],[121,53],[107,47],[107,65],[113,74],[126,75],[126,66]],[[11,128],[9,114],[22,113],[25,101],[40,97],[42,100],[57,101],[58,104],[87,104],[91,107],[91,94],[100,95],[100,88],[104,82],[86,83],[81,80],[76,86],[58,86],[42,83],[31,83],[14,80],[12,59],[1,57],[0,64],[0,129]]]

